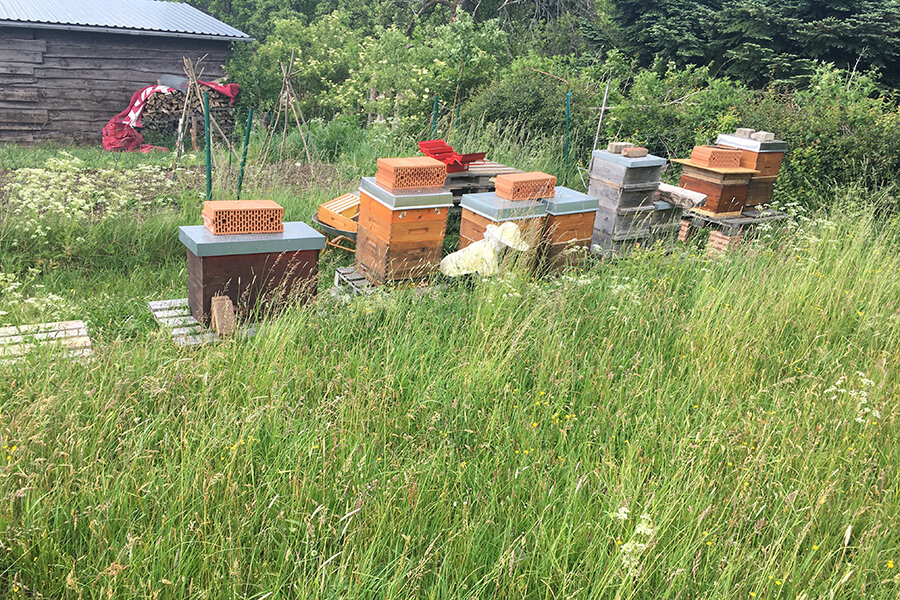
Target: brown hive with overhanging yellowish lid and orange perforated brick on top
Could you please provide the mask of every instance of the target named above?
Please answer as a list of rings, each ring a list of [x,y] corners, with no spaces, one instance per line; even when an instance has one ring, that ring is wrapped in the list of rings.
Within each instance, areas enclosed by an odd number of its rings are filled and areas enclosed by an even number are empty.
[[[694,146],[691,157],[675,162],[684,165],[679,185],[706,194],[706,206],[697,212],[739,215],[747,202],[750,178],[755,169],[741,166],[741,152],[717,146]]]

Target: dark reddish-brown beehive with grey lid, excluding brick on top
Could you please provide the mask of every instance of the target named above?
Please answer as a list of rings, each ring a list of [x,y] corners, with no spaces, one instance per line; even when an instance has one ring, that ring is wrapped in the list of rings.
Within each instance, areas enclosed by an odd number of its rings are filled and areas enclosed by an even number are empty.
[[[214,235],[202,226],[180,227],[194,318],[209,322],[213,296],[228,296],[241,315],[257,306],[275,308],[286,300],[313,296],[325,236],[305,223],[285,223],[284,229],[275,234]]]

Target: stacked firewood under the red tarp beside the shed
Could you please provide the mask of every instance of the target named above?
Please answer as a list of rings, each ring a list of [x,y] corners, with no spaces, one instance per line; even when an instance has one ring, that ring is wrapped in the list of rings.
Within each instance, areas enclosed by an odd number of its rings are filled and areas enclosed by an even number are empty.
[[[204,89],[209,92],[209,113],[222,132],[230,136],[234,129],[234,109],[231,98],[212,89]],[[188,126],[196,121],[198,133],[203,132],[203,99],[196,94],[191,94],[191,102],[187,114]],[[161,135],[177,135],[178,120],[184,109],[184,92],[173,90],[168,94],[155,93],[147,98],[144,110],[141,113],[141,122],[145,129]]]

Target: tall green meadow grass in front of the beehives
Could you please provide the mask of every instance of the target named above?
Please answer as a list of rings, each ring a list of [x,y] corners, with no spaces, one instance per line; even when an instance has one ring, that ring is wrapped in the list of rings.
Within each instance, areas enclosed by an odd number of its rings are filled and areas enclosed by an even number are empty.
[[[252,192],[305,218],[355,168]],[[0,243],[96,332],[89,362],[0,366],[4,596],[900,592],[895,224],[837,198],[718,260],[322,293],[182,349],[146,301],[184,295],[184,193],[94,255]]]

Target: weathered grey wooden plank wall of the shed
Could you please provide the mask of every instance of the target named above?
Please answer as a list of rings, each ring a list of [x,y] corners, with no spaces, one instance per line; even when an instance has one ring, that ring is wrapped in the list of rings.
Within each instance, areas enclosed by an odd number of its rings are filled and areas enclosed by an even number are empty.
[[[201,79],[224,75],[229,43],[0,27],[0,142],[100,144],[110,118],[182,57],[206,55]]]

